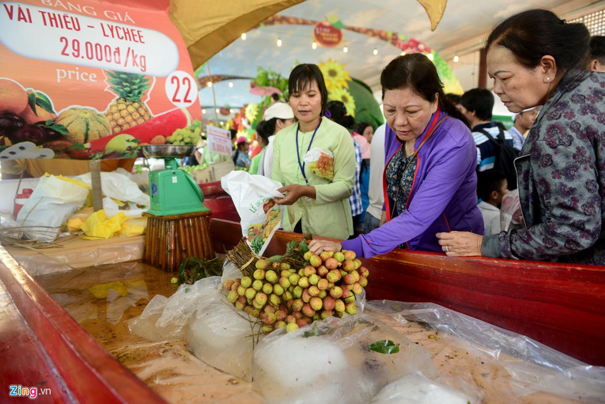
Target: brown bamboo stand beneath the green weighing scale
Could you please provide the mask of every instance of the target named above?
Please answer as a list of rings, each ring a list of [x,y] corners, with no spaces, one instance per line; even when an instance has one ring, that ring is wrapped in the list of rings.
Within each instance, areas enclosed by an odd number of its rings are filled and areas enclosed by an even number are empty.
[[[189,256],[214,258],[210,239],[209,210],[148,217],[143,262],[163,271],[177,271]]]

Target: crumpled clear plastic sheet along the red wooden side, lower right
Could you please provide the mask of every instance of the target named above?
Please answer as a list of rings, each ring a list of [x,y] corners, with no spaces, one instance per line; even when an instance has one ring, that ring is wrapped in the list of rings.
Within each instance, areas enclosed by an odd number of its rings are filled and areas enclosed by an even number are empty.
[[[505,369],[509,376],[506,388],[501,380],[485,379],[483,386],[474,386],[476,391],[500,390],[503,395],[511,396],[511,402],[535,392],[587,403],[602,403],[605,397],[605,368],[586,365],[526,336],[433,303],[373,300],[367,302],[366,307],[370,311],[389,313],[400,322],[426,323],[442,333],[447,345],[462,346],[474,353],[477,361],[491,361]],[[475,384],[460,376],[442,375],[439,380],[460,391],[469,391]]]

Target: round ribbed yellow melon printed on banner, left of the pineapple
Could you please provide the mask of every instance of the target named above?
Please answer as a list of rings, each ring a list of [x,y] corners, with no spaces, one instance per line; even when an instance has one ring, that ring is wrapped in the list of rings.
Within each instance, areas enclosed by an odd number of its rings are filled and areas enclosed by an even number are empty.
[[[74,143],[88,143],[111,133],[107,118],[90,107],[67,108],[54,123],[64,125],[68,130],[65,139]]]

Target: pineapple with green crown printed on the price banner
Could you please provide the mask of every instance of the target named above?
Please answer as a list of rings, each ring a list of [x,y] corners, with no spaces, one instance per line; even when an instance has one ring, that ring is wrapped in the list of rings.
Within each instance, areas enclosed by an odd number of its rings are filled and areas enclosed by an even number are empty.
[[[105,70],[110,90],[117,98],[103,113],[111,124],[111,133],[132,128],[151,119],[151,111],[141,99],[149,90],[151,78],[125,71]]]

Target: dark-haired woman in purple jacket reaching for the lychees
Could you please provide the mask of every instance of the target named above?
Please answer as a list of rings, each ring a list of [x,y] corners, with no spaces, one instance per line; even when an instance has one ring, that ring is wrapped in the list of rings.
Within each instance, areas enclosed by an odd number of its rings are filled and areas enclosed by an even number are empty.
[[[353,250],[371,257],[393,248],[442,251],[440,231],[483,233],[477,208],[477,148],[460,112],[443,94],[433,62],[399,56],[382,70],[387,118],[385,206],[381,227],[352,240],[312,240],[311,251]]]

